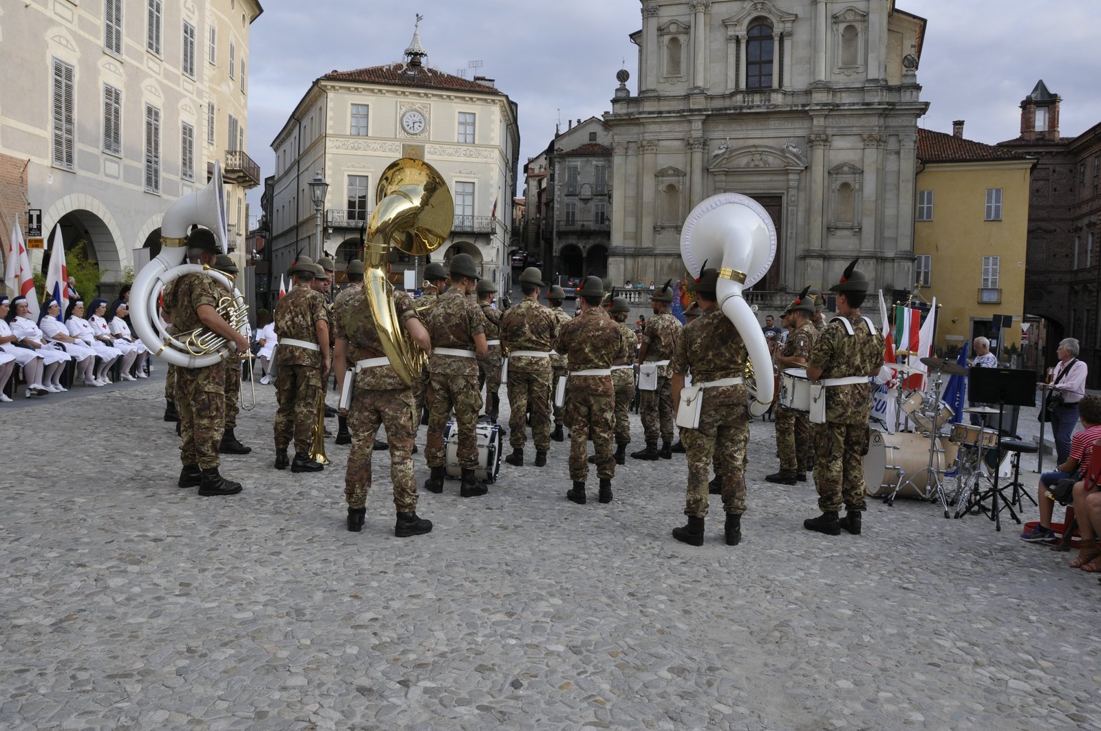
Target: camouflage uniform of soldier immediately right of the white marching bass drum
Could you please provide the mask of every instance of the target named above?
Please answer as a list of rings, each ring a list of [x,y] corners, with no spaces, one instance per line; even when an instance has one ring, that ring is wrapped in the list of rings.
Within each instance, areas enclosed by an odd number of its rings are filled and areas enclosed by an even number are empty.
[[[534,299],[524,299],[501,318],[501,343],[506,353],[549,352],[559,329],[560,321],[550,309]],[[523,449],[527,440],[524,427],[528,413],[535,449],[550,449],[550,358],[509,356],[509,444],[513,449]]]

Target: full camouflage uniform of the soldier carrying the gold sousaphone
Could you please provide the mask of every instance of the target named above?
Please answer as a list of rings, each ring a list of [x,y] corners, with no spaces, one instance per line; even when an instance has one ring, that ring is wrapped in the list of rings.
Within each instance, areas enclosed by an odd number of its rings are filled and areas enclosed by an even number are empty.
[[[404,327],[416,317],[413,299],[404,292],[394,292],[394,312]],[[362,287],[349,286],[337,298],[333,314],[334,332],[348,341],[349,366],[368,358],[385,358],[374,320]],[[345,498],[348,508],[363,508],[371,489],[371,445],[382,424],[390,443],[390,481],[394,490],[394,506],[399,513],[416,512],[416,477],[413,471],[413,438],[416,435],[413,389],[406,386],[390,366],[349,372],[356,379],[349,410],[352,434],[348,468],[345,471]]]

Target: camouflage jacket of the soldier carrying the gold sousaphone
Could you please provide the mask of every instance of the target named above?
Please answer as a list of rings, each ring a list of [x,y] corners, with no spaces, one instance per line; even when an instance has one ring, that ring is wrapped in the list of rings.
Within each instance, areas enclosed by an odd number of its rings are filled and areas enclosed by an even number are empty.
[[[397,313],[401,327],[416,317],[413,299],[404,292],[394,292],[394,312]],[[379,340],[379,331],[374,327],[374,319],[371,317],[371,308],[367,304],[367,293],[362,287],[348,287],[337,297],[333,312],[333,332],[337,338],[348,341],[349,368],[355,367],[358,360],[386,357]],[[356,377],[356,388],[389,391],[404,389],[406,385],[397,378],[393,368],[382,366],[361,371]]]

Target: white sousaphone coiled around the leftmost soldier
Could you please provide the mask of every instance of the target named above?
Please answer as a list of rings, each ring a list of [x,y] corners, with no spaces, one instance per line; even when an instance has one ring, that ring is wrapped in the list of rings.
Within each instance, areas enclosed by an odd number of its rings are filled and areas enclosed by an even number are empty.
[[[242,335],[248,332],[248,306],[230,277],[203,264],[184,263],[187,257],[187,231],[193,225],[210,229],[221,244],[222,252],[226,251],[229,237],[221,164],[218,161],[214,163],[214,176],[209,185],[177,199],[164,212],[161,220],[161,253],[142,268],[134,279],[130,291],[130,319],[134,332],[153,354],[181,368],[206,368],[230,358],[235,351],[233,343],[205,328],[170,334],[157,306],[165,285],[184,274],[196,272],[214,279],[227,292],[218,305],[218,313]]]

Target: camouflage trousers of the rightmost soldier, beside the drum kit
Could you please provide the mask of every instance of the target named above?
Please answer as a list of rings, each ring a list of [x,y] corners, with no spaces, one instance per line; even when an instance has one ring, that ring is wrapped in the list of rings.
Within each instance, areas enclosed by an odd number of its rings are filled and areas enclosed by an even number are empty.
[[[815,488],[818,508],[837,512],[843,504],[863,511],[864,455],[868,454],[868,424],[827,422],[815,426]]]

